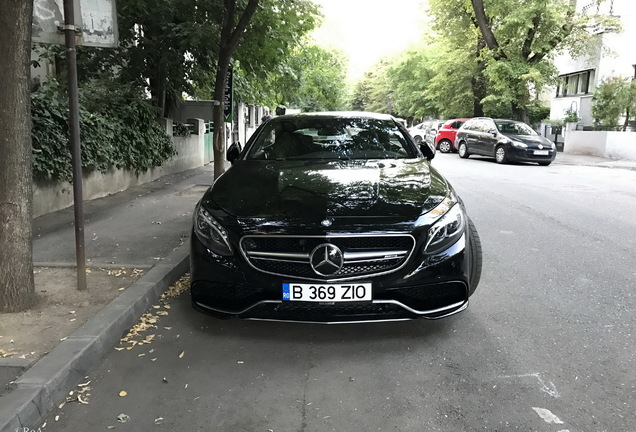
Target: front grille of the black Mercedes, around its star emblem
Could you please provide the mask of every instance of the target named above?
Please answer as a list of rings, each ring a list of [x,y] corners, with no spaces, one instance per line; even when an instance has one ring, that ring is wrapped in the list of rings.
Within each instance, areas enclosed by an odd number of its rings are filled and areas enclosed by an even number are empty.
[[[336,246],[343,255],[341,268],[321,275],[311,265],[312,252],[322,244]],[[241,251],[257,270],[300,279],[346,280],[390,273],[411,255],[415,239],[405,234],[376,236],[250,235],[241,239]]]

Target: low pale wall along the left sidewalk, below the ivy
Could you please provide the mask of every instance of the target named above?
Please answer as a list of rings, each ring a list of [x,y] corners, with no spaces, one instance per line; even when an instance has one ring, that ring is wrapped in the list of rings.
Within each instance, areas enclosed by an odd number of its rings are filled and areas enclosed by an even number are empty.
[[[195,132],[189,137],[173,137],[172,142],[177,154],[164,165],[143,173],[125,169],[111,168],[105,173],[94,171],[84,175],[82,191],[84,200],[92,200],[121,192],[130,187],[149,183],[167,174],[185,171],[203,166],[202,119],[190,119],[196,122]],[[172,130],[172,120],[167,119],[166,129]],[[201,132],[203,131],[203,132]],[[73,205],[73,186],[69,182],[36,182],[33,184],[33,217],[61,210]]]

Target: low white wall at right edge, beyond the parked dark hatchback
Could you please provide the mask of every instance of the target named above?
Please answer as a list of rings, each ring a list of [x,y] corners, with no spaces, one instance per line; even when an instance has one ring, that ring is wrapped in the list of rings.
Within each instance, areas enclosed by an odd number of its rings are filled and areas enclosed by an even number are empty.
[[[564,152],[636,161],[636,132],[568,130]]]

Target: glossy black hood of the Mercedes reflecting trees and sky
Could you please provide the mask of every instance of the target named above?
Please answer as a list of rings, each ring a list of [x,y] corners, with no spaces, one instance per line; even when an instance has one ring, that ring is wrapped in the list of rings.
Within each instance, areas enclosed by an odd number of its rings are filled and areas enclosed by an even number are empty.
[[[424,159],[236,161],[203,197],[237,218],[417,218],[448,194]]]

